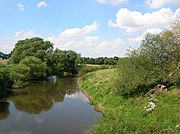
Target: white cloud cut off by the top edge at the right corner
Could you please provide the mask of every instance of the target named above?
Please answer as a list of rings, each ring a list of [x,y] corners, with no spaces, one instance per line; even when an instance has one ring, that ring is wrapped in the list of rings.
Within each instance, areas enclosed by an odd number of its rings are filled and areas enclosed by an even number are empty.
[[[180,4],[180,0],[146,0],[146,5],[148,5],[150,8],[159,8],[166,3]]]

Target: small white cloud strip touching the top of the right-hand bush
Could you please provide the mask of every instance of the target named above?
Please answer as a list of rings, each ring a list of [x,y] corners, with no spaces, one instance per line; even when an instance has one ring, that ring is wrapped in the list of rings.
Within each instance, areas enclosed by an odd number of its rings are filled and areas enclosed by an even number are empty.
[[[136,38],[129,38],[128,39],[128,42],[130,44],[139,44],[141,43],[141,41],[143,40],[144,36],[147,34],[147,33],[151,33],[151,34],[159,34],[161,33],[163,30],[162,29],[159,29],[159,28],[152,28],[152,29],[147,29],[141,36],[138,36]]]

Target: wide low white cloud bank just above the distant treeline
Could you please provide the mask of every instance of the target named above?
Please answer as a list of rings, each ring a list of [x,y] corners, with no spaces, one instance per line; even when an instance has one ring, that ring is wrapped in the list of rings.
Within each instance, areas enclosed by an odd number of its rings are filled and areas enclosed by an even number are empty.
[[[122,39],[103,40],[97,36],[100,24],[93,22],[82,28],[66,29],[58,35],[49,36],[47,40],[55,44],[55,48],[74,50],[82,56],[116,56],[122,55]],[[123,48],[124,49],[124,48]]]

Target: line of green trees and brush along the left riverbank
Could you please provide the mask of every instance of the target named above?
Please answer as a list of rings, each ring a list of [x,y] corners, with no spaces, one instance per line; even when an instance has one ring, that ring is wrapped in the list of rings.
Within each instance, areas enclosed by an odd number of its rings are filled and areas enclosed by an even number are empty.
[[[109,65],[114,65],[117,59],[117,57],[81,58],[80,54],[72,50],[54,50],[53,43],[38,37],[20,40],[10,54],[0,52],[0,98],[12,91],[7,89],[24,87],[32,80],[46,79],[51,75],[65,77],[77,73],[82,75],[108,68]],[[84,65],[87,63],[106,65]]]

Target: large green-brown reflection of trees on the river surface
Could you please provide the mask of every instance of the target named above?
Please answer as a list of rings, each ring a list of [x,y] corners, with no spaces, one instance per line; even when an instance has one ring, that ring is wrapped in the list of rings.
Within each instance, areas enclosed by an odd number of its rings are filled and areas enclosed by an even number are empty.
[[[71,95],[78,89],[77,79],[54,79],[32,83],[21,89],[24,94],[11,98],[16,109],[31,114],[39,114],[52,108],[54,102],[62,102],[66,94]]]

